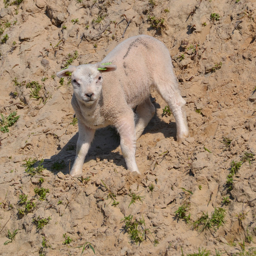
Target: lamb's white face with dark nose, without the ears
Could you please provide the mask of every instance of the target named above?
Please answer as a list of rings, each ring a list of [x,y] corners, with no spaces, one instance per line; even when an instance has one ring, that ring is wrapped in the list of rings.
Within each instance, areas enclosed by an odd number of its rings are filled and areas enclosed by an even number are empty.
[[[71,76],[76,99],[86,105],[93,104],[101,94],[103,78],[95,65],[81,65]]]

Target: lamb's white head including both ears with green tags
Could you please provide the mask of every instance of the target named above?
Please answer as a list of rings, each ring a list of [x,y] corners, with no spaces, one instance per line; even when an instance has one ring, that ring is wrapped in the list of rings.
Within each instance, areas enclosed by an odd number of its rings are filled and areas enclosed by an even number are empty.
[[[98,99],[102,89],[102,72],[115,71],[116,66],[108,63],[85,64],[69,66],[57,73],[58,77],[71,76],[76,99],[86,105],[93,104]]]

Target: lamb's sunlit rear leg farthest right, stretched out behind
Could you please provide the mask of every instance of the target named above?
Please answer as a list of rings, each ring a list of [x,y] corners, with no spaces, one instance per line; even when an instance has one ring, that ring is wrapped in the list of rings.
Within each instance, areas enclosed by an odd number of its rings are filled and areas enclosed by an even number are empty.
[[[173,78],[172,80],[174,79],[175,78]],[[170,82],[169,84],[158,83],[157,91],[172,110],[172,114],[176,120],[176,137],[177,140],[180,141],[189,136],[187,115],[184,109],[186,101],[180,95],[180,90],[178,89],[177,82],[175,80],[172,80],[172,84],[170,84]]]

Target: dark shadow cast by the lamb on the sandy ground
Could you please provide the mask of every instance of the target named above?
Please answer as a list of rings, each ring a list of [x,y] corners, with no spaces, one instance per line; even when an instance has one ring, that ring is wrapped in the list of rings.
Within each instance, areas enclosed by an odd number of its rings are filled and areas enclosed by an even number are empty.
[[[160,105],[155,104],[156,108],[160,108]],[[151,119],[148,126],[145,128],[143,134],[145,133],[158,133],[162,132],[164,137],[174,137],[176,136],[176,124],[170,122],[169,124],[158,118],[156,115]],[[142,136],[143,136],[142,134]],[[50,159],[45,159],[44,167],[48,170],[57,173],[59,171],[67,174],[69,168],[72,167],[74,159],[76,156],[76,142],[78,139],[78,132],[68,141],[68,143],[61,148],[57,155],[51,156]],[[84,163],[96,158],[113,160],[116,166],[123,166],[126,168],[124,157],[122,156],[121,150],[118,152],[112,152],[120,145],[120,137],[116,132],[115,128],[108,126],[106,128],[101,128],[96,130],[94,140],[92,141],[91,148],[85,158]],[[66,164],[66,167],[61,170],[52,170],[51,166],[54,162],[61,162]],[[69,167],[70,164],[70,167]]]

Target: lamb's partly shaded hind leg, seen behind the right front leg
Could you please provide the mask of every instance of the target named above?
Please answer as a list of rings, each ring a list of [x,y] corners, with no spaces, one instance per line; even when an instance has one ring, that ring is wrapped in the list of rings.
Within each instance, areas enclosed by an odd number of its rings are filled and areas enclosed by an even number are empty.
[[[156,112],[155,106],[151,103],[150,98],[145,100],[144,103],[138,105],[136,108],[136,114],[138,115],[138,121],[136,123],[136,140],[138,140],[148,125],[151,118],[154,116]]]

